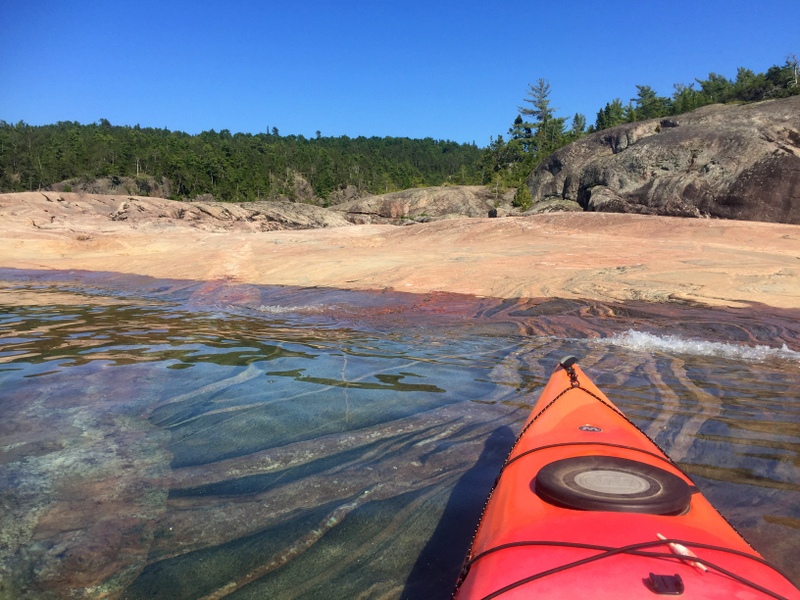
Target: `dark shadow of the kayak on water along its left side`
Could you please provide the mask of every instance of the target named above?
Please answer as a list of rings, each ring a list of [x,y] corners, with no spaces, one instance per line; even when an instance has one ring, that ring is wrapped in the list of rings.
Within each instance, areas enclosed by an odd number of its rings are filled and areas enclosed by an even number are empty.
[[[477,462],[458,480],[430,540],[406,581],[401,598],[450,598],[489,492],[514,443],[510,427],[496,429]]]

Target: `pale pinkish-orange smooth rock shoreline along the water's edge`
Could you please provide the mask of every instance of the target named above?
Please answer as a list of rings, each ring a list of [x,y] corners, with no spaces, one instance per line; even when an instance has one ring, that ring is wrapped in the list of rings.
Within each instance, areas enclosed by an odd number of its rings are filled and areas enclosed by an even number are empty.
[[[795,225],[591,212],[326,225],[301,207],[316,228],[289,230],[270,208],[3,194],[0,267],[495,298],[776,308],[800,298]]]

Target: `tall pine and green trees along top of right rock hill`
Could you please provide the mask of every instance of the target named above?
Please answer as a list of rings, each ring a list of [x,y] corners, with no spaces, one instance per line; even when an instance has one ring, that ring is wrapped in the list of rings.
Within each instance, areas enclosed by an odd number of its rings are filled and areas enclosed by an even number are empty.
[[[686,113],[714,103],[747,103],[786,98],[800,94],[798,58],[790,55],[783,65],[774,65],[765,73],[755,73],[741,67],[735,79],[710,73],[706,79],[675,84],[672,96],[659,96],[648,85],[636,86],[636,97],[624,103],[616,98],[598,112],[593,125],[587,127],[586,117],[576,114],[569,127],[567,119],[557,117],[550,106],[550,83],[539,79],[529,85],[524,106],[508,130],[492,138],[481,156],[482,183],[496,188],[516,187],[514,203],[528,207],[532,202],[525,179],[547,156],[558,148],[594,131],[624,123]],[[695,87],[697,86],[697,87]]]

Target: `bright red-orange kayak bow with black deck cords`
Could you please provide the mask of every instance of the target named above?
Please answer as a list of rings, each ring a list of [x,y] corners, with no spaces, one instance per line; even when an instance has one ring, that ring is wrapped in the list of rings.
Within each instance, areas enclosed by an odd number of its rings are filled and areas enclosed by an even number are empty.
[[[500,471],[455,598],[667,596],[800,590],[566,358]]]

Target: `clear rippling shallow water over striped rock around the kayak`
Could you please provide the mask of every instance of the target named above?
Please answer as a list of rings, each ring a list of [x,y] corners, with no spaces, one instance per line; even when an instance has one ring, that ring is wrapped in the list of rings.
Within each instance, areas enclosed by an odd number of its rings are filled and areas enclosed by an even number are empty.
[[[790,311],[0,278],[0,598],[448,598],[566,354],[800,581]]]

